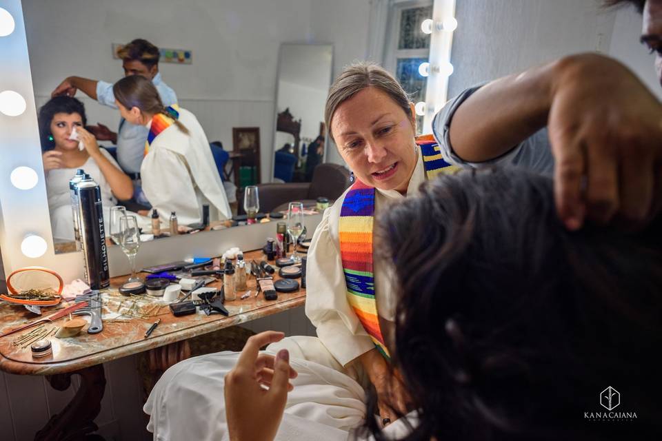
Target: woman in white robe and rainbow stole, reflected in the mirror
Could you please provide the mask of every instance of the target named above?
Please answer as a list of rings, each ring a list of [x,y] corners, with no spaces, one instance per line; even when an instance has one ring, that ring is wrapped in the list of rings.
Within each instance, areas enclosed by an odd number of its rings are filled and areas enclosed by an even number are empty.
[[[112,90],[121,116],[150,130],[140,174],[161,220],[176,212],[181,225],[199,223],[205,204],[210,220],[231,218],[209,141],[194,114],[176,104],[164,107],[157,88],[140,75],[126,76]]]

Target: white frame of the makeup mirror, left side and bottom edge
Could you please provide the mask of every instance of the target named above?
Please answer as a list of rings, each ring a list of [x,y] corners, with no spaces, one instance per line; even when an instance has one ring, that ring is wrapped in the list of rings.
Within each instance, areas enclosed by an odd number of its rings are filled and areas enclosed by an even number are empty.
[[[66,281],[83,277],[81,252],[55,254],[46,184],[41,162],[41,143],[37,125],[37,107],[32,88],[28,42],[21,0],[6,0],[2,8],[15,23],[14,31],[0,37],[0,92],[13,90],[23,96],[26,110],[18,116],[0,113],[0,252],[5,275],[21,267],[41,266],[57,271]],[[37,172],[37,185],[18,189],[10,181],[14,168],[26,166]],[[321,214],[306,216],[305,226],[313,232]],[[46,253],[30,258],[21,252],[21,242],[28,234],[46,240]],[[212,232],[182,235],[168,240],[153,240],[141,245],[139,266],[160,265],[188,257],[219,256],[230,247],[250,250],[263,246],[265,238],[275,234],[275,224],[265,223],[232,227]],[[121,247],[108,248],[110,276],[130,273],[128,259]]]

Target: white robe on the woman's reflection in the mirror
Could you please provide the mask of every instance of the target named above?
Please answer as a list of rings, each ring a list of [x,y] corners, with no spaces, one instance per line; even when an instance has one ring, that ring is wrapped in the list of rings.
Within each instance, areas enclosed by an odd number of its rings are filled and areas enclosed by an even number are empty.
[[[194,114],[185,109],[179,109],[179,122],[189,133],[170,125],[152,140],[143,159],[140,175],[145,196],[164,222],[175,212],[180,225],[199,223],[204,204],[210,206],[210,220],[231,218],[204,130]]]

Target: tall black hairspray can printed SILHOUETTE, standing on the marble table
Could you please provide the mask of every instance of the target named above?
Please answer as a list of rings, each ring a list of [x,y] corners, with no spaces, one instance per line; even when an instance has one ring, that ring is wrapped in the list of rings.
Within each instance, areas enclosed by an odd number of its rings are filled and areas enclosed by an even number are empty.
[[[76,190],[85,278],[90,288],[103,289],[110,285],[110,274],[101,189],[89,174],[85,174]]]

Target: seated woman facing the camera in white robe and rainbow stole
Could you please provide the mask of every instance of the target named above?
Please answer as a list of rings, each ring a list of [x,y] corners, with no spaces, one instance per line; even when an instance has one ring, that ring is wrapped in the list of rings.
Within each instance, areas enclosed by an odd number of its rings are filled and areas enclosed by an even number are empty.
[[[280,335],[267,348],[274,355],[287,349],[292,367],[294,389],[277,440],[345,440],[365,421],[370,384],[380,424],[392,433],[403,430],[397,415],[412,409],[385,345],[396,298],[388,271],[372,264],[374,216],[416,194],[427,179],[458,169],[443,160],[432,135],[415,136],[414,105],[379,65],[345,68],[330,88],[325,120],[357,180],[325,210],[308,250],[305,314],[318,338]],[[214,353],[168,369],[144,407],[154,438],[227,439],[223,380],[238,357]],[[266,371],[256,378],[270,384],[273,357],[265,360]]]

